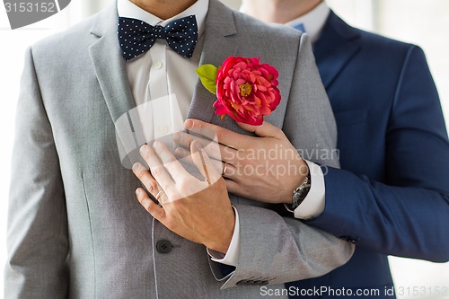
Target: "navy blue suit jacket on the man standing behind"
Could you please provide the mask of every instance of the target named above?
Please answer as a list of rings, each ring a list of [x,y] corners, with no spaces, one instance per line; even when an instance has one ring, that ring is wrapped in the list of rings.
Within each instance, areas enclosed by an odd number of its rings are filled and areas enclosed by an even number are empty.
[[[288,286],[345,287],[352,297],[377,288],[380,295],[363,298],[391,298],[387,255],[449,259],[449,142],[436,86],[420,48],[354,29],[334,13],[314,54],[342,170],[325,175],[326,207],[308,224],[357,250],[330,274]]]

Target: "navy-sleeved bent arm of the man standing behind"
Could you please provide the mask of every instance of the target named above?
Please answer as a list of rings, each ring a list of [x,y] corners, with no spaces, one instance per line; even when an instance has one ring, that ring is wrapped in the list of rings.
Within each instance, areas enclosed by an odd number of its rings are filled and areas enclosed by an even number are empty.
[[[447,261],[449,143],[436,87],[417,47],[405,59],[391,113],[385,181],[330,169],[326,207],[308,224],[383,254]]]

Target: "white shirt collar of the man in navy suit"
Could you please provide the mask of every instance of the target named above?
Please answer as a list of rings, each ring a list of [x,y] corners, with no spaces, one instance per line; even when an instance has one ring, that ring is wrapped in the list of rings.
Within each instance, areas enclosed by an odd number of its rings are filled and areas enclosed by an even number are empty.
[[[305,32],[311,37],[312,43],[320,37],[320,33],[330,13],[329,6],[323,1],[321,4],[313,8],[309,13],[286,22],[286,25],[294,27],[297,24],[303,24]]]

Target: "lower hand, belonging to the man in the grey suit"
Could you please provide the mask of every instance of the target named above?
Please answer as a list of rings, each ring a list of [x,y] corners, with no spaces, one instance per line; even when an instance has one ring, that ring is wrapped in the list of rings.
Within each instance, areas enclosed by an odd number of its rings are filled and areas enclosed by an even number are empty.
[[[136,197],[146,211],[173,233],[207,248],[226,253],[233,237],[235,215],[225,180],[220,176],[201,144],[190,147],[192,162],[205,180],[198,180],[182,167],[168,148],[160,142],[143,145],[140,153],[150,166],[133,166],[136,177],[158,200],[156,204],[144,189]]]

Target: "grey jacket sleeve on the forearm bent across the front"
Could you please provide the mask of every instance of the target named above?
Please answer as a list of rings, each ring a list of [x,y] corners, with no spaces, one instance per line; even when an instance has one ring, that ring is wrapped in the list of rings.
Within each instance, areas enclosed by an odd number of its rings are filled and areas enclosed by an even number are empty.
[[[354,246],[310,227],[281,217],[267,208],[236,205],[240,218],[240,251],[233,272],[224,276],[218,263],[211,262],[222,288],[320,277],[344,265]]]

